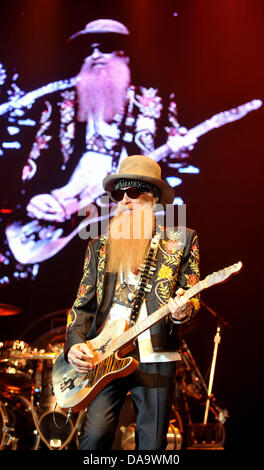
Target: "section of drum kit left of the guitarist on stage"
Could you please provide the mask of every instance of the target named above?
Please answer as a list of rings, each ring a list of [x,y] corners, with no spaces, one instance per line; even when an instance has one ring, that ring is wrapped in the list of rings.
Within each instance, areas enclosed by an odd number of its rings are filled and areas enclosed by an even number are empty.
[[[0,316],[20,312],[0,304]],[[64,333],[65,327],[59,327],[32,344],[20,339],[0,342],[0,450],[79,447],[84,412],[67,419],[52,394],[52,367],[63,350]]]

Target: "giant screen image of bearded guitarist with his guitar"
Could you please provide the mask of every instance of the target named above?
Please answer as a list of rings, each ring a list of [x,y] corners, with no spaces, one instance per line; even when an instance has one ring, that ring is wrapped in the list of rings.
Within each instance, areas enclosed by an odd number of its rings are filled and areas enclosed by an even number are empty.
[[[76,77],[0,106],[0,114],[5,112],[19,131],[19,122],[30,122],[35,101],[43,105],[33,145],[23,156],[19,210],[12,214],[0,246],[0,260],[8,272],[0,275],[1,284],[10,282],[14,265],[16,278],[25,270],[36,274],[39,263],[72,240],[81,221],[79,211],[95,201],[100,205],[101,181],[128,155],[168,159],[170,184],[175,186],[182,181],[181,172],[199,172],[190,165],[189,151],[200,135],[256,106],[220,113],[187,132],[178,122],[173,95],[165,104],[157,89],[132,84],[131,40],[124,24],[110,19],[89,22],[70,43],[78,54],[83,51]],[[22,139],[23,133],[18,135]],[[23,141],[11,145],[12,152],[21,145]]]

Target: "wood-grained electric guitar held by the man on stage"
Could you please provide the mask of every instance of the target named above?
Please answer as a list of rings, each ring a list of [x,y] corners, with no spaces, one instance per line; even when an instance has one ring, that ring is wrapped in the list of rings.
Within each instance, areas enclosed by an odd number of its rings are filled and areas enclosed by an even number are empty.
[[[188,289],[181,297],[187,303],[194,295],[215,284],[224,282],[231,275],[242,269],[239,261],[207,276]],[[64,354],[57,357],[52,371],[53,391],[57,404],[61,408],[79,411],[86,408],[98,393],[112,380],[125,377],[132,373],[138,362],[124,354],[133,349],[133,341],[145,330],[149,329],[170,313],[168,305],[156,310],[143,321],[127,328],[124,319],[118,319],[87,344],[94,354],[93,368],[85,374],[77,372],[65,361]],[[179,323],[181,323],[179,321]]]

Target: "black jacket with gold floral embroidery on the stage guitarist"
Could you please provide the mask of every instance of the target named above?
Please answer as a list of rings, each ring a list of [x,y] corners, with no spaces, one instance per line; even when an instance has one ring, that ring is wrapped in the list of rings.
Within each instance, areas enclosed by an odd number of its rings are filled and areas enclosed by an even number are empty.
[[[166,304],[178,288],[188,289],[199,281],[199,248],[194,230],[160,229],[157,267],[146,295],[148,314]],[[76,343],[97,335],[113,303],[116,275],[105,272],[107,237],[88,244],[83,277],[76,300],[68,314],[65,353]],[[199,296],[192,299],[193,315],[199,310]],[[150,329],[153,349],[175,351],[178,328],[167,317]]]

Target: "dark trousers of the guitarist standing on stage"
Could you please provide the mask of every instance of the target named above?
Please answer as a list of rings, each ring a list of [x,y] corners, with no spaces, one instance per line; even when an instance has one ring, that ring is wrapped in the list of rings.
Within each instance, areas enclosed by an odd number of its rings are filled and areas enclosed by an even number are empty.
[[[81,450],[111,450],[120,410],[130,391],[137,420],[137,450],[164,450],[175,391],[176,362],[144,363],[113,380],[89,405]]]

